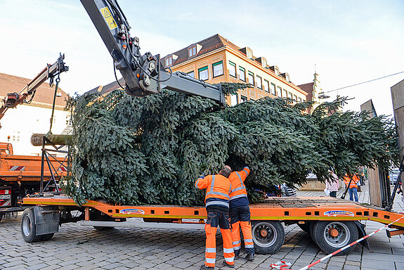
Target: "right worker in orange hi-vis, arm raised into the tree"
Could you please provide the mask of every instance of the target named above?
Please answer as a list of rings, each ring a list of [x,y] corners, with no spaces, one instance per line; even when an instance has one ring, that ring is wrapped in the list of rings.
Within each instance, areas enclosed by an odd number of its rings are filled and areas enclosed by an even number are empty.
[[[249,167],[244,167],[240,172],[232,172],[228,179],[231,184],[230,191],[230,224],[231,236],[235,257],[240,255],[240,226],[247,255],[245,259],[254,260],[254,243],[252,241],[252,229],[249,213],[249,201],[244,181],[249,174]]]

